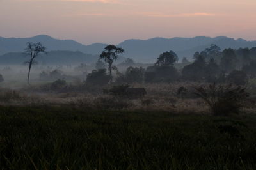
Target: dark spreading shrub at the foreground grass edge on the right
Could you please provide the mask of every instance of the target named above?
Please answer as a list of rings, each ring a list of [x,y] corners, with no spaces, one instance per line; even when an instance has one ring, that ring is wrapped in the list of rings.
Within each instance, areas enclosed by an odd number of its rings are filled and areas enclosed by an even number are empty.
[[[207,87],[196,88],[196,95],[209,105],[215,115],[239,113],[239,109],[248,97],[245,88],[232,84],[210,84]]]

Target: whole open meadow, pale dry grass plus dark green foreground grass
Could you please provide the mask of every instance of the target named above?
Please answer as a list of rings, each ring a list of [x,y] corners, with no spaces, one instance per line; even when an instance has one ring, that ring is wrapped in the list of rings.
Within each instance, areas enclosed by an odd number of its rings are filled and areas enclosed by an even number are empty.
[[[147,94],[72,83],[1,89],[1,169],[256,168],[253,86],[239,113],[218,115],[195,95],[209,84],[131,86]]]

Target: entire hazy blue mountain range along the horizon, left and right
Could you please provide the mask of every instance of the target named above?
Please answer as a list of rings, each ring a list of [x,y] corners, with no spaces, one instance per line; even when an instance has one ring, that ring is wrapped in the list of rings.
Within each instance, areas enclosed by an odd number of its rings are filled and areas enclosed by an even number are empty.
[[[61,63],[69,63],[77,58],[80,61],[97,61],[99,54],[104,50],[106,44],[93,43],[92,45],[83,45],[74,40],[58,40],[47,35],[38,35],[31,38],[3,38],[0,37],[0,62],[3,63],[8,56],[17,56],[24,51],[27,42],[41,42],[47,51],[55,51],[55,60],[60,59]],[[239,49],[240,47],[256,47],[256,41],[246,41],[241,38],[234,39],[227,36],[217,36],[215,38],[207,36],[196,36],[194,38],[151,38],[148,40],[125,40],[117,44],[122,47],[125,53],[122,54],[125,58],[132,58],[134,61],[143,63],[156,62],[157,56],[162,52],[173,50],[182,59],[183,56],[192,59],[196,51],[202,51],[211,44],[216,44],[225,48]],[[61,58],[65,56],[65,58]],[[72,59],[68,59],[68,56]],[[79,57],[76,57],[79,56]],[[53,57],[52,57],[53,58]],[[82,59],[84,58],[84,59]],[[51,59],[51,58],[49,58]],[[47,62],[46,62],[47,63]]]

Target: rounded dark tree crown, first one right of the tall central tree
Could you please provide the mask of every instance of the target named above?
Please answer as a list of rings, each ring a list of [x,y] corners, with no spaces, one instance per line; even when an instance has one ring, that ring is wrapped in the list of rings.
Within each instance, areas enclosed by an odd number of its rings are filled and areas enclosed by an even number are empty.
[[[156,65],[158,66],[170,66],[178,61],[178,56],[172,50],[166,51],[163,54],[160,54],[157,58]]]

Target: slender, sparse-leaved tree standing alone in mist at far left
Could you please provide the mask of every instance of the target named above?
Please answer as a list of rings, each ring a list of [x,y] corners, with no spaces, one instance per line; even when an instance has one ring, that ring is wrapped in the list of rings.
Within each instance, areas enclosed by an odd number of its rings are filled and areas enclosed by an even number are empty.
[[[26,62],[26,63],[29,64],[28,84],[29,84],[31,66],[35,63],[34,59],[38,56],[38,54],[45,52],[45,50],[46,50],[46,48],[40,42],[38,42],[38,43],[28,42],[27,43],[27,47],[25,49],[25,52],[28,56],[30,56],[29,61]]]

